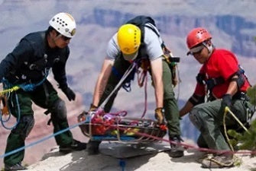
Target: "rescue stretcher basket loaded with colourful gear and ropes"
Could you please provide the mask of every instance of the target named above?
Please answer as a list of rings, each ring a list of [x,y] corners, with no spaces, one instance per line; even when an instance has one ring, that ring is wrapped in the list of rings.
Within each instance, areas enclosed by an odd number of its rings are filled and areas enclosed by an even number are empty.
[[[92,123],[90,116],[81,114],[78,121],[81,122],[86,117],[86,122],[79,125],[83,135],[92,141],[118,141],[119,143],[143,144],[160,141],[166,135],[167,130],[160,128],[157,122],[152,119],[138,119],[124,116],[117,116],[120,122],[112,125]],[[96,128],[105,128],[105,134],[96,134]],[[115,132],[115,134],[111,134]]]

